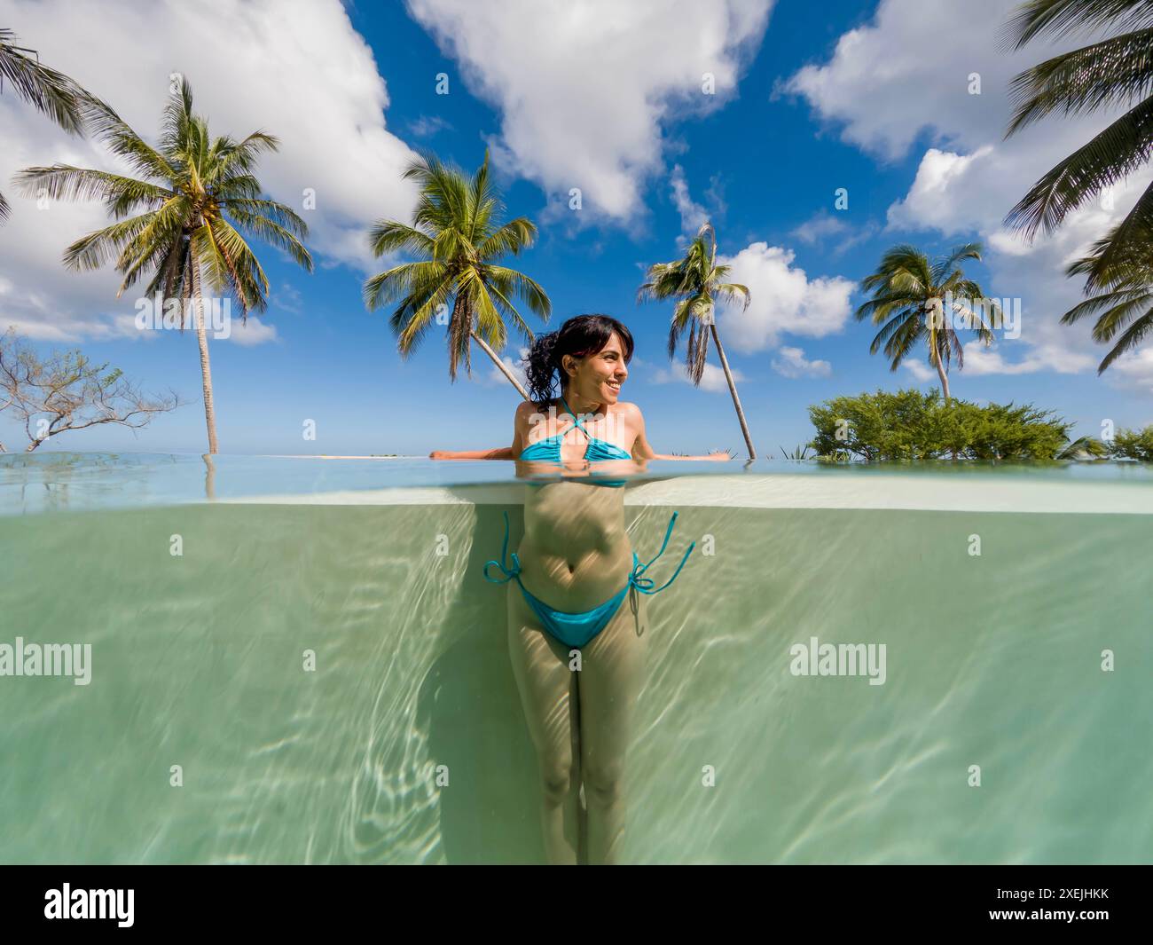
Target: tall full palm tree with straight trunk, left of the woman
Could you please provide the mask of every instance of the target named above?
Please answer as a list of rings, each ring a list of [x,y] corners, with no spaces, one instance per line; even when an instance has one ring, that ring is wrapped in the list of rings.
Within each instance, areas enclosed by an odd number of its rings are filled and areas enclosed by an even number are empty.
[[[98,269],[114,258],[116,271],[125,273],[116,298],[146,275],[144,295],[159,293],[164,303],[176,300],[191,306],[209,453],[218,452],[204,286],[214,298],[235,300],[246,322],[249,312],[266,308],[267,277],[241,233],[285,250],[312,271],[312,257],[297,239],[308,233],[304,222],[284,204],[263,198],[253,175],[259,152],[276,151],[279,142],[264,132],[242,141],[211,137],[208,121],[193,113],[187,80],[165,108],[157,148],[103,103],[91,103],[88,121],[93,134],[138,177],[53,164],[28,167],[16,180],[28,193],[46,188],[52,200],[100,198],[118,220],[69,246],[63,255],[69,269]]]

